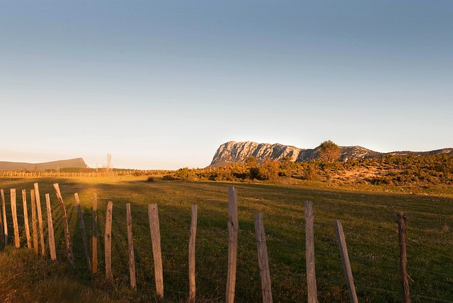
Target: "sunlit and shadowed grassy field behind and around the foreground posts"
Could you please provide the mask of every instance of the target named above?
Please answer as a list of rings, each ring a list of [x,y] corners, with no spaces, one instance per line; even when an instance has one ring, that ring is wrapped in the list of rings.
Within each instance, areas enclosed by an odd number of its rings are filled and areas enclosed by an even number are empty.
[[[253,212],[263,212],[274,302],[306,302],[304,202],[315,215],[316,280],[320,302],[348,302],[333,222],[343,224],[352,273],[360,302],[401,302],[396,212],[407,217],[408,273],[413,302],[453,302],[453,195],[423,188],[300,182],[223,183],[164,181],[146,177],[0,178],[6,193],[10,244],[0,253],[0,300],[16,302],[159,302],[147,205],[159,205],[164,265],[163,302],[188,298],[190,205],[198,205],[197,301],[222,302],[226,285],[227,193],[234,185],[239,198],[239,250],[236,302],[260,302],[260,278]],[[9,189],[28,190],[38,182],[45,214],[50,193],[57,241],[57,262],[42,260],[27,248],[11,244],[13,227]],[[66,264],[61,210],[52,188],[59,183],[67,207],[76,265]],[[100,271],[92,277],[84,258],[74,193],[79,193],[91,241],[93,193],[98,194]],[[107,202],[113,201],[113,282],[104,280],[103,231]],[[137,290],[129,287],[125,204],[131,203]],[[47,222],[45,220],[45,226]],[[23,215],[19,217],[25,246]],[[45,229],[45,232],[47,229]],[[46,234],[47,235],[47,234]],[[46,236],[47,239],[47,236]],[[46,240],[47,241],[47,240]],[[48,247],[47,247],[48,254]]]

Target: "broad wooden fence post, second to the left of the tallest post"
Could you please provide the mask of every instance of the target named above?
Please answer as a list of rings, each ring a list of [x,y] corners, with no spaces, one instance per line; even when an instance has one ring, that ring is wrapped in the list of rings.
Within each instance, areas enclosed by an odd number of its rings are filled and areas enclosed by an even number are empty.
[[[154,277],[156,279],[156,292],[159,297],[164,297],[164,273],[162,270],[161,230],[159,227],[159,214],[156,204],[148,205],[149,231],[154,258]]]

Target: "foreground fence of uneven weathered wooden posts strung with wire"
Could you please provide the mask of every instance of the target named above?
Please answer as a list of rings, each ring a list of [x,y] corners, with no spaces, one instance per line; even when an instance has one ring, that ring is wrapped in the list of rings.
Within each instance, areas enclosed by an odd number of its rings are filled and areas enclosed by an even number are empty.
[[[34,188],[29,190],[22,190],[22,200],[23,200],[23,216],[21,212],[18,212],[17,199],[16,199],[16,190],[9,190],[9,199],[8,193],[4,190],[1,190],[1,202],[2,202],[2,216],[0,216],[0,236],[1,239],[4,239],[4,244],[7,245],[11,241],[11,236],[14,240],[14,245],[18,248],[21,246],[21,239],[25,241],[26,246],[29,249],[33,248],[33,251],[42,257],[47,257],[50,255],[51,260],[56,260],[57,256],[61,259],[67,260],[69,263],[74,264],[75,262],[81,263],[81,260],[85,260],[86,269],[93,275],[98,273],[98,261],[103,261],[103,268],[105,274],[105,280],[113,280],[115,275],[122,275],[125,271],[129,272],[127,280],[129,280],[130,287],[137,289],[137,287],[153,287],[154,292],[157,297],[164,297],[165,292],[174,292],[179,293],[181,296],[188,298],[189,302],[195,302],[197,296],[200,296],[200,291],[197,291],[197,278],[210,280],[212,285],[218,285],[220,283],[226,285],[224,299],[226,302],[234,302],[236,290],[238,285],[236,285],[236,273],[237,273],[237,251],[238,251],[238,234],[239,234],[239,224],[238,224],[238,205],[237,205],[237,192],[235,188],[229,188],[228,193],[228,219],[227,219],[227,229],[228,229],[228,256],[227,259],[227,272],[226,280],[216,279],[212,277],[207,277],[203,275],[198,275],[196,273],[196,256],[201,258],[211,258],[214,262],[222,263],[223,260],[219,257],[214,256],[204,256],[200,253],[195,253],[195,243],[197,235],[197,205],[193,205],[191,208],[190,216],[190,229],[188,231],[189,240],[188,240],[188,271],[181,272],[178,270],[172,270],[172,268],[163,268],[163,263],[165,262],[165,253],[162,253],[161,249],[161,231],[159,224],[159,212],[158,206],[156,204],[151,204],[148,206],[148,210],[136,209],[134,212],[131,210],[130,203],[127,203],[125,207],[121,205],[113,205],[112,201],[107,201],[107,205],[101,205],[105,212],[98,212],[98,197],[96,193],[93,195],[93,212],[92,212],[92,226],[91,226],[91,245],[88,243],[88,238],[86,237],[86,227],[84,220],[84,213],[81,210],[81,205],[79,202],[79,195],[74,193],[74,199],[76,200],[76,205],[68,205],[65,203],[62,194],[59,190],[59,185],[54,184],[54,190],[57,197],[58,204],[51,203],[50,195],[45,194],[46,202],[46,214],[47,214],[47,228],[45,227],[45,222],[42,219],[42,206],[41,198],[42,195],[39,191],[38,183],[34,184]],[[30,204],[28,204],[27,197],[30,197]],[[7,202],[10,202],[11,213],[7,212]],[[67,210],[68,209],[68,210]],[[31,210],[31,229],[29,225],[28,210]],[[117,215],[116,212],[122,212],[121,215],[125,215],[126,223],[120,220],[114,219]],[[125,214],[124,214],[125,212]],[[7,216],[8,214],[8,216]],[[103,216],[102,216],[103,214]],[[135,217],[133,217],[134,215]],[[76,233],[74,230],[70,232],[68,220],[74,219],[74,216],[79,219],[79,229],[80,231]],[[143,256],[135,256],[134,254],[134,240],[143,241],[141,237],[134,237],[132,233],[132,227],[134,229],[144,229],[147,228],[143,224],[134,225],[134,218],[137,218],[137,221],[143,222],[144,217],[147,217],[149,222],[149,234],[151,238],[151,251],[152,251],[152,263],[150,260],[145,260]],[[264,229],[264,219],[263,213],[257,212],[254,214],[254,226],[256,233],[256,247],[258,255],[258,264],[256,270],[260,275],[260,293],[263,299],[263,302],[273,302],[273,298],[277,301],[282,302],[297,302],[296,300],[284,297],[284,294],[281,293],[275,295],[273,294],[273,288],[270,280],[270,266],[268,260],[268,248],[266,244],[266,235]],[[9,219],[11,218],[11,219]],[[19,236],[19,220],[21,219],[21,229],[22,229],[22,238]],[[407,261],[406,261],[406,244],[405,244],[405,227],[406,218],[402,213],[398,213],[398,230],[399,230],[399,239],[400,239],[400,268],[401,268],[401,297],[403,302],[411,302],[411,297],[409,295],[408,288],[408,274],[407,274]],[[12,225],[11,225],[12,221]],[[314,247],[314,215],[313,207],[311,202],[307,201],[305,204],[305,221],[306,221],[306,284],[307,284],[307,297],[308,302],[317,302],[318,294],[316,290],[316,274],[315,274],[315,253],[325,253],[323,251],[315,251]],[[105,222],[105,224],[104,224]],[[345,281],[348,288],[348,293],[350,295],[350,302],[357,302],[357,294],[355,291],[355,283],[352,278],[352,269],[350,266],[350,259],[348,256],[348,249],[346,247],[345,235],[343,233],[343,226],[337,220],[334,222],[336,230],[336,239],[338,241],[338,246],[340,248],[340,256],[343,263],[343,270],[345,275]],[[13,234],[9,234],[13,228]],[[39,228],[38,228],[39,227]],[[103,237],[104,241],[100,241],[98,236],[99,231],[104,230]],[[47,231],[47,232],[45,232]],[[115,241],[114,234],[122,234],[126,231],[127,236],[127,245],[123,241]],[[3,234],[1,234],[3,232]],[[25,235],[24,235],[25,234]],[[59,236],[55,236],[55,234]],[[142,233],[139,233],[142,234]],[[83,256],[79,255],[78,258],[74,258],[73,243],[74,237],[81,238],[81,242],[84,246]],[[47,241],[46,241],[47,240]],[[178,239],[163,239],[164,242],[167,241],[178,241]],[[101,244],[101,246],[98,246]],[[147,246],[143,243],[139,243],[141,246]],[[91,246],[91,253],[89,246]],[[117,256],[113,253],[113,247],[117,248],[116,251],[124,251],[124,255],[127,255],[127,270],[115,270],[115,266],[118,267],[124,261],[117,260]],[[103,253],[98,251],[99,248],[103,248]],[[39,250],[39,248],[41,248]],[[292,247],[288,247],[293,249]],[[297,248],[298,249],[298,248]],[[80,248],[77,248],[77,251],[82,251]],[[103,258],[99,258],[102,256]],[[64,257],[62,257],[64,256]],[[167,253],[167,258],[171,253]],[[164,257],[164,258],[163,258]],[[222,261],[222,262],[221,262]],[[124,267],[124,266],[123,266]],[[154,273],[151,273],[151,268],[154,268]],[[410,267],[409,267],[410,268]],[[423,270],[420,268],[412,268],[413,270]],[[240,269],[239,269],[240,270]],[[137,277],[137,271],[140,272],[140,276]],[[171,286],[166,285],[166,279],[164,273],[171,273],[174,275],[186,275],[188,278],[188,285],[184,285],[184,289],[172,289]],[[153,275],[154,274],[154,275]],[[439,275],[445,275],[448,278],[453,277],[448,273],[437,273]],[[122,279],[125,279],[125,275],[122,275]],[[154,284],[149,281],[153,281]],[[302,278],[301,278],[302,280]],[[302,282],[302,281],[301,281]],[[323,281],[326,282],[326,281]],[[331,281],[338,284],[343,282]],[[358,285],[362,289],[367,289],[365,285]],[[373,287],[369,287],[374,291],[379,292],[388,292],[389,290],[379,290]],[[203,294],[201,295],[203,296]],[[418,295],[418,298],[423,298],[423,295]],[[434,297],[425,297],[425,299],[431,299],[433,301],[439,302],[450,302],[447,299],[434,298]]]

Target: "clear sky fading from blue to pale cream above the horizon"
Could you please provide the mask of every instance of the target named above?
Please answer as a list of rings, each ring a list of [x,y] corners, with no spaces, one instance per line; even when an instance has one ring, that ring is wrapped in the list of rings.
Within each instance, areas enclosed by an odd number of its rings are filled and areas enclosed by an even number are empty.
[[[0,161],[453,147],[453,1],[0,0]]]

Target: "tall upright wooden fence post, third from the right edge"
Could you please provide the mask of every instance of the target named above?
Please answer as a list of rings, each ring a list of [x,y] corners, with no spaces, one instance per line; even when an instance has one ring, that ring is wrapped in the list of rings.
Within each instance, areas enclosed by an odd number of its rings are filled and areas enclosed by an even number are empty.
[[[316,273],[314,269],[314,215],[311,201],[305,201],[305,254],[306,254],[306,285],[308,302],[317,303]]]

